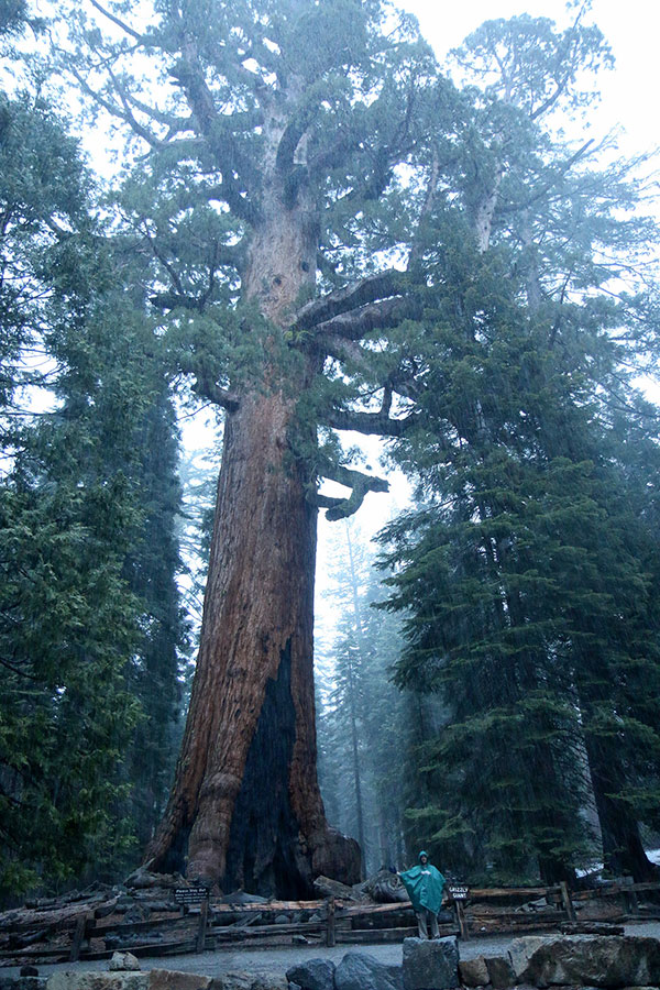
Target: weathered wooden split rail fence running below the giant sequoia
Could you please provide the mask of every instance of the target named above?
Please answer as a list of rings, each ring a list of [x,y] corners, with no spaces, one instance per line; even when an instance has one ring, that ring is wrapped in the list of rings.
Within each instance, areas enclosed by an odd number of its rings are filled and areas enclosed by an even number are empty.
[[[180,893],[180,892],[179,892]],[[641,904],[640,898],[654,903]],[[189,900],[189,899],[188,899]],[[660,917],[659,883],[613,883],[595,890],[570,891],[565,883],[537,888],[470,888],[468,898],[450,904],[440,915],[440,934],[503,934],[553,931],[576,920],[588,902],[608,903],[608,922]],[[144,902],[148,904],[148,901]],[[166,956],[221,950],[223,946],[340,945],[402,942],[417,934],[409,902],[360,904],[329,898],[322,901],[268,901],[226,904],[208,899],[198,903],[158,905],[158,917],[127,922],[109,914],[105,904],[43,923],[35,919],[0,925],[9,959],[77,961],[109,958],[113,952],[136,956]],[[154,912],[155,913],[155,912]],[[100,916],[101,915],[101,916]],[[105,915],[105,916],[103,916]],[[286,920],[285,916],[286,915]]]

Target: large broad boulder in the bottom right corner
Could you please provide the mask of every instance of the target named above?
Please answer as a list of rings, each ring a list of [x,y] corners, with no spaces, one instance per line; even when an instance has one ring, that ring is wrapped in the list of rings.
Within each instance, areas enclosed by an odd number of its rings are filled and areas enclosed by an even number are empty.
[[[518,982],[548,987],[658,986],[660,941],[637,935],[517,938],[509,959]]]

